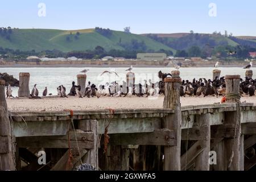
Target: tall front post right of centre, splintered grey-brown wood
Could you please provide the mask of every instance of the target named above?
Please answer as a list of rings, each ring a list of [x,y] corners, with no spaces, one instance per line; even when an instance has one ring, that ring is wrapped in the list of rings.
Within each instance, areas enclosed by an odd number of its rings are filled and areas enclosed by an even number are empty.
[[[174,113],[164,119],[164,128],[176,131],[176,146],[164,147],[164,170],[180,171],[180,145],[181,145],[181,109],[179,71],[172,71],[172,77],[165,78],[165,94],[163,108],[174,109]]]

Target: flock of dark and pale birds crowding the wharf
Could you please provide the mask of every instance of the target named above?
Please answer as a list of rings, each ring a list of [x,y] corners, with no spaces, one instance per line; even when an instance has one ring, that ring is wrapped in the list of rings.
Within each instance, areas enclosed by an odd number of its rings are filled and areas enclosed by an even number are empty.
[[[218,68],[218,61],[214,65],[215,68]],[[250,62],[249,65],[247,65],[246,69],[250,69],[253,66],[252,62]],[[133,67],[131,66],[129,69],[126,69],[126,71],[131,72]],[[179,68],[176,68],[179,69]],[[81,71],[81,73],[87,73],[89,69],[84,69]],[[101,73],[101,76],[109,73],[109,74],[115,74],[118,76],[116,72],[113,71],[104,71]],[[131,97],[131,96],[158,96],[158,95],[164,95],[164,78],[171,77],[172,75],[170,73],[163,73],[162,71],[158,72],[158,77],[160,78],[160,81],[158,82],[152,82],[151,80],[144,80],[143,83],[139,84],[129,84],[125,81],[122,82],[121,85],[118,84],[118,82],[114,81],[112,83],[106,82],[105,85],[99,85],[96,87],[95,84],[92,84],[90,81],[88,81],[88,84],[86,85],[85,91],[81,91],[80,85],[75,85],[75,81],[72,82],[72,88],[68,94],[66,94],[66,88],[63,85],[60,85],[57,87],[57,96],[59,97],[68,97],[68,96],[77,96],[79,98],[83,97],[97,97],[100,98],[102,96],[112,96],[112,97]],[[119,77],[119,76],[118,76]],[[254,96],[256,87],[256,79],[253,80],[251,78],[245,77],[245,80],[241,78],[240,81],[240,93],[242,94],[249,94],[249,96]],[[180,88],[180,96],[224,96],[225,95],[225,78],[220,77],[214,78],[214,80],[207,80],[205,78],[199,78],[199,80],[196,80],[193,78],[192,81],[189,80],[183,80]],[[7,86],[6,88],[6,96],[13,97],[11,95],[13,91],[11,90],[11,86]],[[47,96],[47,87],[43,90],[43,96]],[[48,94],[49,96],[52,95],[52,93]],[[31,98],[41,98],[39,97],[39,91],[36,88],[36,84],[34,85],[34,88],[31,91],[30,94]]]

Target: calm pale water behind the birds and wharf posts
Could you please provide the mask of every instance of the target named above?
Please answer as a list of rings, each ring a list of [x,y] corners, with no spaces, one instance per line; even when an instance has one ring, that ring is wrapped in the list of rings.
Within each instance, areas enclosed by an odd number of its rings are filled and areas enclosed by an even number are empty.
[[[39,95],[42,95],[44,88],[47,86],[48,93],[56,95],[56,88],[59,85],[64,85],[67,88],[67,93],[72,86],[72,81],[77,83],[76,75],[85,68],[0,68],[0,73],[8,73],[19,79],[20,72],[30,73],[30,89],[34,84],[37,84]],[[86,82],[90,81],[96,85],[105,84],[106,82],[117,81],[122,84],[125,80],[127,68],[88,68],[89,72],[86,73]],[[242,68],[219,68],[221,76],[225,75],[241,75],[245,77],[245,69]],[[100,76],[103,71],[115,71],[119,77],[109,73]],[[135,73],[135,82],[143,83],[143,80],[151,80],[152,82],[158,81],[158,72],[170,73],[174,68],[133,68]],[[180,76],[184,80],[192,80],[193,78],[212,78],[213,68],[180,68]],[[256,68],[252,68],[256,74]],[[13,96],[17,96],[18,88],[13,88]]]

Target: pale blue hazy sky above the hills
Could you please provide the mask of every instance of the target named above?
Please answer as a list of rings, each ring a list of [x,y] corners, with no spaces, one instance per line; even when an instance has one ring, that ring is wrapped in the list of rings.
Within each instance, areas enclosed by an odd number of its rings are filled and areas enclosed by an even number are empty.
[[[46,16],[38,16],[39,3],[46,5]],[[216,4],[217,16],[209,16],[210,3]],[[98,26],[120,31],[130,26],[135,34],[228,30],[236,36],[256,36],[255,7],[253,0],[8,0],[1,2],[0,26],[63,30]]]

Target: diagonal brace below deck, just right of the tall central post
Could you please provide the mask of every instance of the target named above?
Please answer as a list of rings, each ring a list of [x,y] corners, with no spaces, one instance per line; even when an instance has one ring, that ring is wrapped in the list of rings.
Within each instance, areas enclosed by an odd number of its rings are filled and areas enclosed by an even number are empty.
[[[195,144],[193,144],[192,147],[188,149],[185,154],[183,154],[180,158],[180,165],[181,170],[185,170],[186,166],[186,158],[187,158],[187,164],[191,163],[197,155],[199,155],[205,148],[205,142],[202,142],[201,140],[197,141]]]

